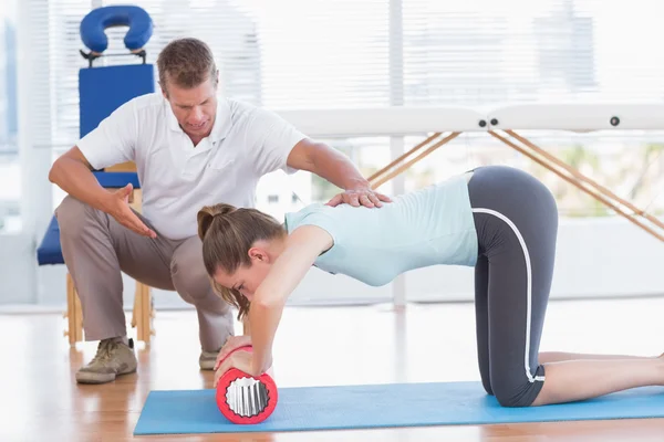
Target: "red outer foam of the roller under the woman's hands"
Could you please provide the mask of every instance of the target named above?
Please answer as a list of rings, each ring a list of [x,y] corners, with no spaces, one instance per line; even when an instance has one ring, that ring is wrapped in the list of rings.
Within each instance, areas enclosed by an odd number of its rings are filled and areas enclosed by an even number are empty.
[[[252,350],[251,346],[239,347],[239,348],[235,349],[234,351],[231,351],[228,356],[232,355],[232,352],[235,352],[235,351],[251,351],[251,350]],[[243,415],[243,414],[240,414],[240,413],[234,411],[234,409],[231,407],[232,404],[229,404],[228,400],[227,400],[227,392],[228,392],[229,387],[231,387],[232,382],[235,382],[236,380],[241,379],[241,378],[256,379],[264,386],[264,396],[267,396],[266,407],[262,410],[259,410],[258,412],[253,413],[252,415]],[[261,394],[261,398],[262,398],[262,394]],[[272,377],[270,375],[268,375],[267,372],[262,373],[259,377],[255,377],[255,376],[249,376],[246,372],[238,370],[237,368],[231,368],[230,370],[228,370],[224,375],[221,375],[221,377],[219,378],[219,381],[217,383],[217,394],[216,394],[217,407],[219,408],[219,411],[221,411],[221,414],[224,414],[224,417],[226,417],[226,419],[228,419],[232,423],[252,424],[252,423],[260,423],[260,422],[264,421],[274,411],[274,408],[277,407],[278,398],[279,398],[279,396],[278,396],[278,391],[277,391],[277,385],[276,385],[274,380],[272,379]]]

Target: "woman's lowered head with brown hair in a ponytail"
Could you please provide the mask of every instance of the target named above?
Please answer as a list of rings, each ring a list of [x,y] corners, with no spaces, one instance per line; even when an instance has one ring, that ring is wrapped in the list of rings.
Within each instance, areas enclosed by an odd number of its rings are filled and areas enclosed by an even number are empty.
[[[197,219],[203,261],[212,286],[242,317],[279,255],[276,240],[283,239],[286,231],[267,213],[225,203],[204,207]]]

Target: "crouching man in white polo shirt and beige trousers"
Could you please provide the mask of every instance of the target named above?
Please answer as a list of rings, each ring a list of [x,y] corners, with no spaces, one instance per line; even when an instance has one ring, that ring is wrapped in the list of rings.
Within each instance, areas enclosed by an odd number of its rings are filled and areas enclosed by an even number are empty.
[[[136,370],[126,337],[121,272],[152,287],[177,291],[196,307],[199,366],[214,369],[234,335],[229,305],[206,275],[196,213],[206,204],[252,207],[257,181],[282,169],[308,170],[345,191],[328,203],[380,207],[353,164],[259,107],[219,99],[209,48],[196,39],[170,42],[157,60],[162,93],[122,105],[53,165],[49,179],[69,196],[56,209],[66,266],[83,309],[86,340],[97,354],[79,382],[108,382]],[[102,188],[93,169],[135,161],[143,214],[127,204],[131,185]]]

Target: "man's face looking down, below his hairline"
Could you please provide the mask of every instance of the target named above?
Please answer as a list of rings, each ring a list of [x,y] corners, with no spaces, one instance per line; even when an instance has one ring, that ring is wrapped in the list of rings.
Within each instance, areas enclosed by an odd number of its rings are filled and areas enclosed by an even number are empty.
[[[217,113],[217,78],[208,78],[196,87],[184,88],[166,82],[163,93],[183,130],[194,138],[207,137]]]

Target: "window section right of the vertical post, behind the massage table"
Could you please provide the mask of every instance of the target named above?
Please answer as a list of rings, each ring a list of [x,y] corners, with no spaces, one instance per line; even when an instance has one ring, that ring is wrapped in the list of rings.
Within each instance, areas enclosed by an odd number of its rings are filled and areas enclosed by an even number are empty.
[[[661,103],[664,63],[652,30],[664,6],[593,0],[403,0],[406,105],[491,108],[518,103]],[[629,13],[625,13],[629,11]],[[623,32],[615,32],[621,29]],[[664,212],[663,133],[529,134],[539,146],[652,213]],[[406,139],[406,148],[421,141]],[[510,147],[464,134],[406,175],[406,189],[484,164],[540,177],[562,215],[613,212]]]

